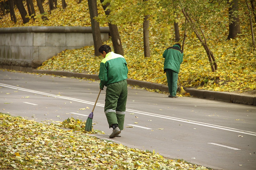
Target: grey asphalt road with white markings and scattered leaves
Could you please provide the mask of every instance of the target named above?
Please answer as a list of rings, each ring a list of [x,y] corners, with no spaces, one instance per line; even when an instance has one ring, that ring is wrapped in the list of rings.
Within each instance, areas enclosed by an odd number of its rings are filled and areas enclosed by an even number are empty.
[[[0,112],[38,122],[86,120],[99,82],[0,70]],[[94,110],[94,129],[108,137],[105,89]],[[9,103],[9,104],[5,104]],[[125,129],[113,140],[168,158],[224,170],[256,169],[256,107],[128,87]],[[83,110],[85,108],[85,110]],[[82,109],[82,110],[81,110]]]

